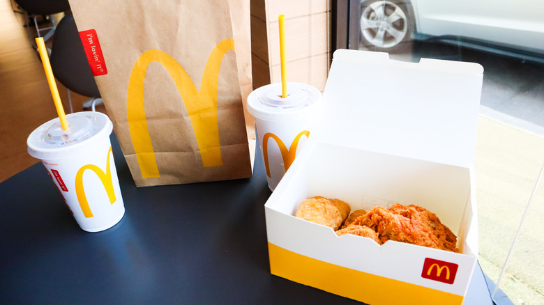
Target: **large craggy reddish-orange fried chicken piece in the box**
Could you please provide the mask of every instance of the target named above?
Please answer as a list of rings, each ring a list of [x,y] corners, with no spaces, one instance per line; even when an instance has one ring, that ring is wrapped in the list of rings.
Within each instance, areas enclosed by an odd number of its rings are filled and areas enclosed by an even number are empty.
[[[437,215],[417,205],[400,205],[391,208],[372,208],[358,217],[353,224],[375,230],[381,242],[395,240],[419,246],[458,252],[457,237],[441,224]]]

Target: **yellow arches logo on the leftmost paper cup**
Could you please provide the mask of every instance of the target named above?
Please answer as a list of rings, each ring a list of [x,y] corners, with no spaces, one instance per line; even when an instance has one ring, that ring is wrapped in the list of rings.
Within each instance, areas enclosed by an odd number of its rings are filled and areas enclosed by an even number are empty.
[[[77,171],[77,174],[75,175],[75,194],[77,195],[77,201],[80,202],[81,210],[83,211],[83,214],[86,218],[93,217],[93,212],[91,212],[91,208],[89,207],[89,202],[87,201],[87,196],[85,195],[85,189],[83,187],[83,173],[87,169],[90,169],[96,175],[98,178],[100,178],[100,182],[104,185],[104,188],[106,189],[107,197],[109,198],[109,203],[114,204],[117,200],[115,197],[115,191],[113,189],[113,181],[112,181],[112,170],[109,168],[109,156],[110,153],[112,153],[112,148],[110,147],[107,151],[107,162],[106,162],[106,172],[100,167],[93,165],[93,164],[87,164],[83,166],[79,171]]]

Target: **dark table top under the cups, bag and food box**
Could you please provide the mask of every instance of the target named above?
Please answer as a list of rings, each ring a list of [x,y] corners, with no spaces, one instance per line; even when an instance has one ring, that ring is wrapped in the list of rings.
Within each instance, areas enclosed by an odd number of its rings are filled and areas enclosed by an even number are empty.
[[[361,304],[270,274],[258,150],[250,179],[137,188],[112,148],[126,214],[103,232],[42,164],[0,184],[0,304]],[[492,304],[479,266],[464,304]]]

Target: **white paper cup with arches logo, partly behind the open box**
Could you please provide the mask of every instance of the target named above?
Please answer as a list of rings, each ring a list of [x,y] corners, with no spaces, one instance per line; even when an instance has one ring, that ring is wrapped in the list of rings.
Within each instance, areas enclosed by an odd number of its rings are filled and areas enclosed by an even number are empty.
[[[317,88],[287,83],[262,86],[248,96],[248,111],[255,117],[255,130],[264,158],[266,179],[273,191],[294,158],[308,141],[310,130],[322,109]]]

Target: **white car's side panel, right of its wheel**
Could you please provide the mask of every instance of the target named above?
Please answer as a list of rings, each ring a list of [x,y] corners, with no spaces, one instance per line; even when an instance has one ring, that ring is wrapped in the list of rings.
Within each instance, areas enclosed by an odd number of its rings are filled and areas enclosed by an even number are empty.
[[[544,51],[541,0],[412,0],[419,33]]]

